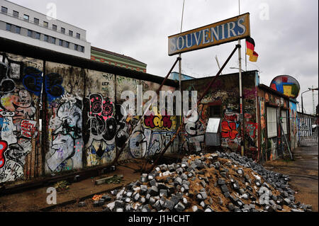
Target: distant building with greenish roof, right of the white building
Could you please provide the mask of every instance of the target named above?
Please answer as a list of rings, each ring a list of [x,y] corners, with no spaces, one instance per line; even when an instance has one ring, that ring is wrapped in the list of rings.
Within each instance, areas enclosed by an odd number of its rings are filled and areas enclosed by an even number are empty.
[[[125,55],[103,50],[98,47],[91,47],[91,60],[103,62],[106,64],[115,65],[118,67],[125,67],[138,72],[146,72],[147,64],[128,57]]]

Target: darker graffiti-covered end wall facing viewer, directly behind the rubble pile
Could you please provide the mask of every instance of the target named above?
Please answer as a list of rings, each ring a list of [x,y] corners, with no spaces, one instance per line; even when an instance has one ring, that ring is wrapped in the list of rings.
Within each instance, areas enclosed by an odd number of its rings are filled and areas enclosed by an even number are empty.
[[[240,129],[240,95],[238,74],[221,75],[203,97],[193,118],[184,120],[182,144],[184,150],[201,151],[206,147],[205,132],[208,118],[220,118],[221,147],[240,151],[245,144],[245,155],[258,158],[257,149],[257,72],[242,74],[244,131]],[[182,90],[203,94],[212,77],[182,81]],[[215,111],[215,112],[213,112]],[[244,137],[243,137],[244,136]]]

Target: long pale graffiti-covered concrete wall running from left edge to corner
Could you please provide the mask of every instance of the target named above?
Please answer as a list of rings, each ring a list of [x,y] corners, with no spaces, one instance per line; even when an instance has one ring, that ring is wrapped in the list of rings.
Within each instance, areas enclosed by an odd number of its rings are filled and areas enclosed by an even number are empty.
[[[149,109],[137,125],[140,115],[122,106],[123,91],[136,105],[142,87],[145,104],[159,82],[6,52],[0,62],[0,183],[110,164],[126,141],[120,160],[150,157],[177,130],[165,109]]]

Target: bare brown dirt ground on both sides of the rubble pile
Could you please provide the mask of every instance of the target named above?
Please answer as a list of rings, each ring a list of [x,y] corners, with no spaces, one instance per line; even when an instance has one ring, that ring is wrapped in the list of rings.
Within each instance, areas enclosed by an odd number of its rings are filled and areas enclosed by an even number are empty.
[[[294,152],[294,157],[295,161],[277,159],[272,162],[267,162],[264,166],[266,169],[272,171],[289,174],[291,176],[289,184],[291,188],[297,191],[296,200],[301,201],[301,203],[313,205],[313,211],[318,212],[318,146],[298,148]],[[142,162],[128,162],[118,166],[114,172],[72,183],[67,191],[57,193],[57,205],[55,205],[55,208],[46,211],[99,212],[103,210],[103,208],[93,207],[94,200],[92,200],[92,197],[94,194],[108,194],[111,196],[110,192],[113,189],[121,188],[131,181],[138,180],[140,178],[140,172],[137,172],[136,169],[140,168],[141,165]],[[113,176],[114,174],[123,174],[123,181],[119,184],[103,183],[99,186],[95,185],[96,179]],[[48,205],[46,202],[48,195],[46,190],[47,187],[44,187],[23,193],[0,196],[0,212],[41,211],[44,208],[50,208],[52,205]],[[113,196],[111,197],[112,200],[110,202],[113,201]],[[79,201],[82,200],[86,202],[86,206],[78,207]],[[69,202],[69,204],[65,204],[67,202]]]

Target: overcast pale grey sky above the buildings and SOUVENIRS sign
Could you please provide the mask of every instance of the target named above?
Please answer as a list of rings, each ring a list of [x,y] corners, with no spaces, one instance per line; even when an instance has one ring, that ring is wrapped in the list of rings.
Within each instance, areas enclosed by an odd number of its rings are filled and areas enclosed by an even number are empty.
[[[47,13],[47,4],[57,6],[57,19],[86,30],[94,47],[140,60],[147,72],[164,77],[177,55],[167,54],[167,37],[179,33],[183,0],[11,0],[29,9]],[[259,54],[257,62],[247,57],[247,70],[257,69],[267,86],[274,77],[288,74],[301,85],[318,87],[318,0],[241,0],[240,13],[250,13],[250,35]],[[237,0],[185,0],[182,31],[238,15]],[[186,52],[181,55],[182,73],[192,77],[214,76],[236,42]],[[245,41],[242,40],[245,47]],[[242,69],[245,48],[242,48]],[[238,55],[223,70],[237,72]],[[178,71],[175,67],[174,71]],[[244,81],[245,82],[245,81]],[[301,111],[301,92],[297,98]],[[306,113],[313,113],[312,92],[303,94]],[[314,91],[315,106],[318,91]]]

